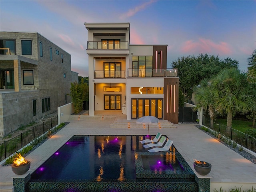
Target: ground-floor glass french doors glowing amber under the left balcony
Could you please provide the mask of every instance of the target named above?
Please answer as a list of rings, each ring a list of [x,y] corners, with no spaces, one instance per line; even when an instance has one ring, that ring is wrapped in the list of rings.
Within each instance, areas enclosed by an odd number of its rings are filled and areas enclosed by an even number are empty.
[[[104,110],[121,110],[121,95],[104,95]]]

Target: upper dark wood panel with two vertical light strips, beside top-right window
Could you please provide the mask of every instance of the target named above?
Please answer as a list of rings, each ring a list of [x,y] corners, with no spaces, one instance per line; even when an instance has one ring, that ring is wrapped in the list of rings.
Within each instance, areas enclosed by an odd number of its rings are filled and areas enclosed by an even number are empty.
[[[161,66],[161,51],[162,51],[162,66]],[[153,46],[153,69],[167,68],[167,45]]]

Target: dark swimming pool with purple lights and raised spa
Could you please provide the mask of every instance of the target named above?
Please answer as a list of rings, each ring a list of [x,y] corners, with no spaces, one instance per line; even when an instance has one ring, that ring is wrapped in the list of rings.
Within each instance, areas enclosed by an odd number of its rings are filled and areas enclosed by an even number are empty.
[[[194,172],[174,146],[150,153],[139,142],[145,138],[73,136],[31,174],[26,191],[198,191]]]

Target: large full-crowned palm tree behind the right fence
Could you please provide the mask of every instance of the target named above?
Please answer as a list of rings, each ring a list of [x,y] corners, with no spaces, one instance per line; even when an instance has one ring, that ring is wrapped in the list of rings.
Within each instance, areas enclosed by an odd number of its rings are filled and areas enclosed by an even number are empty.
[[[218,113],[226,112],[227,127],[232,127],[235,113],[245,114],[255,105],[252,84],[246,81],[246,74],[236,68],[224,69],[212,79],[214,107]]]

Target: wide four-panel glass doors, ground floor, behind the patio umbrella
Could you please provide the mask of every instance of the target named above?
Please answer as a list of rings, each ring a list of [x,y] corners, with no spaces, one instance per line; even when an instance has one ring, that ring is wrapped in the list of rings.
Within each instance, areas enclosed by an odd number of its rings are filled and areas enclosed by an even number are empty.
[[[163,99],[162,98],[132,98],[131,99],[131,118],[138,119],[143,116],[155,116],[163,118]]]

